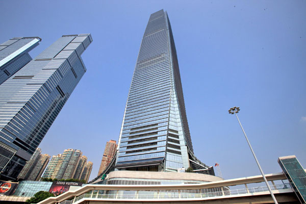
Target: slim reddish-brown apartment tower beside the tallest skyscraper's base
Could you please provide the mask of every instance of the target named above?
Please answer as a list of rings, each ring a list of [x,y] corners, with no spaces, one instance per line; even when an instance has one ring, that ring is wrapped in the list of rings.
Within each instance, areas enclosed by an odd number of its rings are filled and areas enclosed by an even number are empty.
[[[115,140],[110,140],[109,142],[106,142],[98,175],[100,175],[106,169],[106,167],[111,163],[113,157],[116,154],[117,146],[118,145],[116,144]]]

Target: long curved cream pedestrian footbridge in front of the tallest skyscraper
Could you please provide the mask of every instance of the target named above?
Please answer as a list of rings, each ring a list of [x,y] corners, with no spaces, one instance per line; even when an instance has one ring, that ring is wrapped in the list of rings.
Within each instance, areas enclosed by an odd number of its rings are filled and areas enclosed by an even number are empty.
[[[284,173],[266,174],[278,203],[298,199]],[[280,182],[281,181],[281,182]],[[285,181],[285,182],[284,182]],[[39,204],[79,203],[273,203],[262,175],[201,184],[86,185]],[[277,184],[281,183],[281,184]],[[258,185],[257,185],[258,184]],[[237,188],[243,186],[243,188]],[[252,186],[252,187],[250,187]],[[236,187],[236,189],[235,189]]]

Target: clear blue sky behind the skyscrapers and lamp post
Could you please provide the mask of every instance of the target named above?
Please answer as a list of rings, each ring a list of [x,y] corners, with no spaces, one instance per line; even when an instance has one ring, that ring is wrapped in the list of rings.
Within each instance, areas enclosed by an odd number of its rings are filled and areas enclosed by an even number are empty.
[[[1,1],[0,42],[39,36],[38,55],[62,35],[91,33],[83,79],[43,139],[43,153],[81,149],[97,175],[118,141],[149,15],[168,12],[196,156],[223,177],[281,172],[280,156],[306,168],[305,1]],[[217,170],[215,169],[215,172]]]

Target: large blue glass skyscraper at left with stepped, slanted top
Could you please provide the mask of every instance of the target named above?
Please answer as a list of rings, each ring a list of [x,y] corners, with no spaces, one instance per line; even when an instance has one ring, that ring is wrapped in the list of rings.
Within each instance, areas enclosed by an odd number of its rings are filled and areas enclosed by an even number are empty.
[[[90,34],[65,35],[0,85],[1,177],[16,179],[86,71]]]

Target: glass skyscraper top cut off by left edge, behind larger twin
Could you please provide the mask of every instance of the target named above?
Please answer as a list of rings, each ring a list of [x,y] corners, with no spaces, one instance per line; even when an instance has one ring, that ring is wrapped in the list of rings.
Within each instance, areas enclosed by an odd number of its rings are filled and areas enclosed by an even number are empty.
[[[0,84],[32,60],[29,52],[39,41],[39,37],[21,37],[0,44]]]

